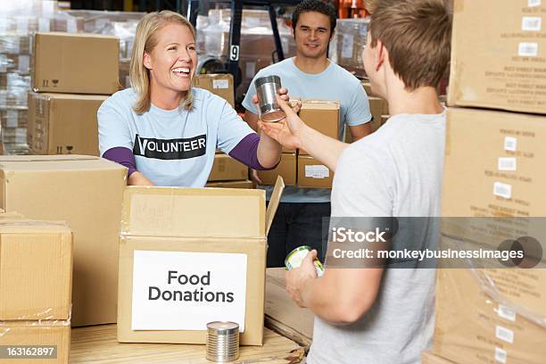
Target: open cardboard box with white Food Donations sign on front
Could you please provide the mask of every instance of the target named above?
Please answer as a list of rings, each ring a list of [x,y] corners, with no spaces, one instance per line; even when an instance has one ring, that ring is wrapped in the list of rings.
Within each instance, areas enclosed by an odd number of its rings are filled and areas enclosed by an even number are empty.
[[[208,322],[231,320],[244,324],[241,344],[261,345],[266,236],[283,187],[267,212],[263,190],[128,187],[118,341],[205,343]]]

